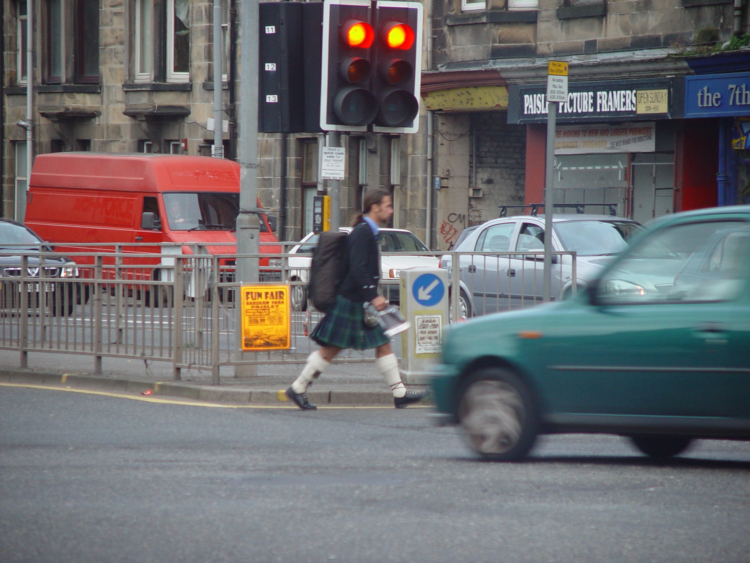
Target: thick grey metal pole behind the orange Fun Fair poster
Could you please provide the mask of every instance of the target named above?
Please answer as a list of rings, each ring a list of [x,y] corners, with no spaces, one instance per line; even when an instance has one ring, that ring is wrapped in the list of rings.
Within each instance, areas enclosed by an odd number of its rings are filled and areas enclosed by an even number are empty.
[[[242,257],[257,254],[260,248],[260,218],[257,215],[258,194],[258,0],[242,0],[240,36],[242,62],[239,98],[239,164],[240,191],[237,216],[237,281],[258,281],[258,259]],[[235,292],[235,360],[251,360],[253,354],[242,352],[242,307],[240,291]],[[235,366],[235,377],[257,375],[255,366]]]

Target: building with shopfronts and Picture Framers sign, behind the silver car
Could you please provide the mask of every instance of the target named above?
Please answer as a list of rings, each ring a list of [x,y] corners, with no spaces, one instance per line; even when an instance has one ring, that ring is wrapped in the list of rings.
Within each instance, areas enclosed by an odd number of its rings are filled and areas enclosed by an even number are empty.
[[[750,75],[745,76],[750,69],[747,2],[735,4],[435,2],[434,68],[423,74],[422,93],[440,121],[437,170],[449,188],[441,188],[437,200],[438,225],[447,236],[439,236],[438,242],[449,245],[459,236],[460,228],[451,219],[463,216],[455,211],[461,206],[470,225],[498,216],[500,204],[541,203],[544,86],[550,59],[570,67],[571,98],[558,110],[557,137],[643,128],[655,137],[644,149],[623,144],[609,154],[565,149],[560,143],[555,203],[586,203],[586,212],[604,213],[608,206],[595,203],[614,203],[619,215],[639,221],[682,209],[741,203],[741,197],[734,196],[744,193],[739,184],[750,177],[750,170],[743,168],[750,156],[724,147],[739,142],[731,131],[750,108],[713,113],[700,108],[688,115],[693,102],[686,94],[698,75],[708,77],[703,87],[722,86],[721,77],[733,77],[730,82],[737,88],[743,80],[750,85]],[[627,92],[632,104],[619,106],[620,91]],[[604,95],[606,111],[576,106],[582,95]],[[607,95],[615,95],[616,105],[607,105]],[[648,96],[662,104],[636,104]],[[537,98],[541,104],[529,103]],[[454,187],[467,197],[458,197]],[[508,209],[508,215],[522,211]]]

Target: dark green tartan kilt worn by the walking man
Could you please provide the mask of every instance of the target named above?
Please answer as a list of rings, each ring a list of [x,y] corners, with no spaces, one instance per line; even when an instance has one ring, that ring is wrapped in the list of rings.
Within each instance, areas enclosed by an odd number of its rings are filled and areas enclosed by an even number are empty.
[[[362,303],[350,301],[341,295],[328,310],[323,320],[310,335],[321,346],[367,350],[390,342],[380,326],[368,327],[362,321]]]

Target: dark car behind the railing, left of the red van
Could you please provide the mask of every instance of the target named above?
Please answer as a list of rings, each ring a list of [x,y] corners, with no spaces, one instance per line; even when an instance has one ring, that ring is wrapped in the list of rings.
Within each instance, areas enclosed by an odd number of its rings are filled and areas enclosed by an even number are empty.
[[[5,315],[20,312],[24,294],[28,295],[28,308],[40,314],[71,315],[74,311],[80,285],[55,280],[77,278],[76,263],[67,257],[40,254],[51,251],[33,230],[0,218],[0,307]],[[26,288],[21,281],[21,252],[28,256]]]

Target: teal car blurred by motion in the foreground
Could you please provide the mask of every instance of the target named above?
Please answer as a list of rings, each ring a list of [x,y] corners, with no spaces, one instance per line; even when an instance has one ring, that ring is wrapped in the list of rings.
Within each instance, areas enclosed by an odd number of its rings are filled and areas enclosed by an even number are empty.
[[[668,215],[574,298],[451,327],[437,420],[484,459],[605,432],[674,456],[750,440],[750,206]]]

